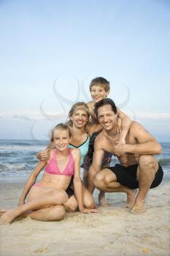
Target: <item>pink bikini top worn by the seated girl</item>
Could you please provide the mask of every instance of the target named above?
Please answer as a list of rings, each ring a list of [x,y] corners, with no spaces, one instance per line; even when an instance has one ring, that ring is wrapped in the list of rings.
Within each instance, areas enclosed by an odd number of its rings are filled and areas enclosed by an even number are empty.
[[[56,174],[56,175],[64,175],[64,176],[73,176],[74,175],[74,158],[72,156],[72,153],[69,149],[69,162],[64,168],[63,171],[61,171],[57,164],[57,149],[54,151],[53,157],[50,159],[50,162],[47,163],[45,167],[46,173]]]

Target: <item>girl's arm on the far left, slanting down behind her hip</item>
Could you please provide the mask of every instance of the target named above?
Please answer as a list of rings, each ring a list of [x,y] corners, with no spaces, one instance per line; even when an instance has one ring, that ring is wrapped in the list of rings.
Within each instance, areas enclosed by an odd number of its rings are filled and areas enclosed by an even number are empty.
[[[20,200],[18,202],[18,206],[21,206],[25,203],[26,196],[28,195],[29,190],[33,186],[33,184],[36,181],[37,176],[39,175],[40,171],[42,170],[43,167],[45,167],[47,162],[38,162],[34,171],[31,173],[31,175],[28,178],[28,181],[26,181],[26,185],[23,189],[23,193],[20,196]]]

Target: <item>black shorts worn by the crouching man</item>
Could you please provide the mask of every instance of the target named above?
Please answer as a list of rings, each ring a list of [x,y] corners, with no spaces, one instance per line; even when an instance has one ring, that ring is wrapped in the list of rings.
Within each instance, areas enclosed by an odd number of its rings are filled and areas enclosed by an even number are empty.
[[[163,179],[163,169],[159,162],[158,165],[158,170],[155,173],[155,178],[152,181],[150,189],[158,187]],[[112,172],[115,173],[115,176],[117,177],[117,182],[120,182],[121,185],[130,189],[137,189],[139,187],[139,181],[137,180],[136,176],[137,167],[138,164],[130,165],[128,167],[116,164],[114,167],[107,167],[107,169],[112,170]]]

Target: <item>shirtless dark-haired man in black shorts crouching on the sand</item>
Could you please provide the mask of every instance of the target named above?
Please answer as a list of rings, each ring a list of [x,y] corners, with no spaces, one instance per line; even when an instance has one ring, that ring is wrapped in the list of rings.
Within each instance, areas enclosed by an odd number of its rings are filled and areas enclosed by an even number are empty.
[[[117,129],[117,108],[112,99],[102,99],[96,103],[95,113],[102,129],[96,138],[93,164],[89,170],[89,190],[97,187],[104,192],[127,193],[126,207],[131,212],[144,212],[144,199],[150,188],[157,187],[163,178],[161,165],[153,155],[161,154],[161,146],[149,132],[136,121],[119,144]],[[101,170],[104,151],[115,154],[120,164]],[[135,198],[136,188],[139,192]]]

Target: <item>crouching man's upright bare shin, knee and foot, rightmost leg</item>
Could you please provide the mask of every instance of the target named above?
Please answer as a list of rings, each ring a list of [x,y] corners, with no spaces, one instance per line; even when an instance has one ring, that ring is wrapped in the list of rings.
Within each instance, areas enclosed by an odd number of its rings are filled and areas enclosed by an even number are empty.
[[[145,211],[144,200],[148,190],[155,178],[155,173],[158,170],[158,162],[152,156],[141,156],[139,158],[139,166],[137,177],[139,180],[139,192],[136,196],[132,213],[143,213]]]

